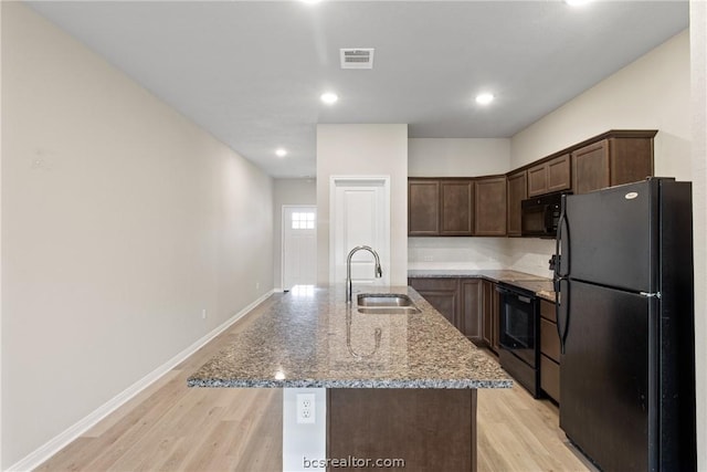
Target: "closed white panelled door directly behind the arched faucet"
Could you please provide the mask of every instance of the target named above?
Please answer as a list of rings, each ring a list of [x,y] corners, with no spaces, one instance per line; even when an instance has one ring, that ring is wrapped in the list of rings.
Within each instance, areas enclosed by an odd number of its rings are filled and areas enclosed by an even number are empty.
[[[390,178],[333,177],[330,206],[329,279],[346,282],[346,259],[357,245],[370,245],[383,271],[374,277],[373,256],[359,251],[351,259],[354,284],[388,285],[390,281]]]

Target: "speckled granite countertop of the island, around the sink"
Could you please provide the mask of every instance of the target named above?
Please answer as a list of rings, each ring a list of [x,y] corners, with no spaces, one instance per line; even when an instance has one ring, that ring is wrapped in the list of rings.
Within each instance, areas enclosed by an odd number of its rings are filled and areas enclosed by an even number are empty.
[[[509,388],[513,380],[413,289],[298,286],[235,335],[190,387]],[[357,290],[358,289],[358,290]],[[405,293],[419,314],[361,314],[357,293]],[[380,328],[376,347],[374,332]]]

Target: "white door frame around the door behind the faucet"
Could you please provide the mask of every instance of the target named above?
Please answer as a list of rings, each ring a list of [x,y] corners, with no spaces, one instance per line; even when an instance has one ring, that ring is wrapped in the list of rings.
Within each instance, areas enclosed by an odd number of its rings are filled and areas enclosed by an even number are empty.
[[[388,270],[388,281],[390,283],[390,176],[329,176],[329,283],[336,283],[336,189],[346,183],[362,186],[381,186],[383,189],[383,248],[373,248],[378,251],[381,265]],[[383,272],[383,276],[386,276]]]

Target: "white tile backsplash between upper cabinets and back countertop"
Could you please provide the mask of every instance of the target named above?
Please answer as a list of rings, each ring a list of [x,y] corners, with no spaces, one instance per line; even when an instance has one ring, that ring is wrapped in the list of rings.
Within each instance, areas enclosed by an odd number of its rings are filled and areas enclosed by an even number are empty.
[[[551,277],[555,240],[537,238],[408,238],[408,269],[510,269]]]

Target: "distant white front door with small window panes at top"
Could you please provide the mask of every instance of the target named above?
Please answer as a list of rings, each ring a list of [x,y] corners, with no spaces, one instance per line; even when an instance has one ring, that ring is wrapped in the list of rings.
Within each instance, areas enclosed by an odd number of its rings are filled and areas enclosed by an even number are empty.
[[[317,282],[317,208],[283,206],[283,290]]]

